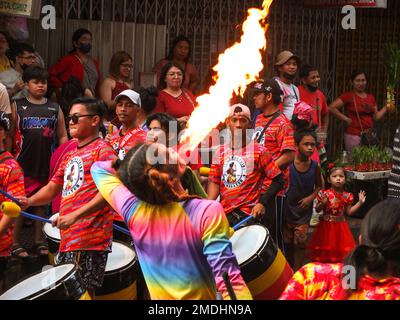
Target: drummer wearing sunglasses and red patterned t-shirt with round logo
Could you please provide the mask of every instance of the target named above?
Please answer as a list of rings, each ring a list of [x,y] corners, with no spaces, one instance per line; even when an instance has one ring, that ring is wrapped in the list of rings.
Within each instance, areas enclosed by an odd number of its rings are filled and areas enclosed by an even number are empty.
[[[70,134],[78,147],[65,156],[51,181],[30,198],[21,198],[22,208],[50,203],[62,191],[60,215],[53,225],[61,230],[56,262],[77,263],[85,288],[92,298],[101,287],[111,250],[113,213],[90,174],[95,161],[116,158],[112,147],[99,138],[104,113],[96,99],[79,98],[68,116]]]

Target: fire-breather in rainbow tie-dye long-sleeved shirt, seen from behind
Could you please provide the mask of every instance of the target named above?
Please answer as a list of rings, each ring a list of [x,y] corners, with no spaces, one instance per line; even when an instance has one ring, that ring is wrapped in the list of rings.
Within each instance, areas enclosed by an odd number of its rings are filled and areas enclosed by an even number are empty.
[[[92,176],[130,229],[152,300],[215,300],[217,290],[227,299],[225,272],[237,298],[251,299],[221,204],[188,196],[185,170],[172,148],[152,143],[95,163]]]

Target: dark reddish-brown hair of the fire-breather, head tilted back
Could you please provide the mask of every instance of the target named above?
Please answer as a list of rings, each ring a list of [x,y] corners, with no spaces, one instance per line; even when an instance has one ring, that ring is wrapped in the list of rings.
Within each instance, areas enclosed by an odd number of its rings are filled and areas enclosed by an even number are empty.
[[[177,164],[149,164],[147,152],[153,151],[149,149],[156,145],[137,145],[128,152],[123,161],[116,162],[114,169],[118,170],[122,183],[140,200],[153,205],[197,198],[186,193],[178,194],[174,190]]]

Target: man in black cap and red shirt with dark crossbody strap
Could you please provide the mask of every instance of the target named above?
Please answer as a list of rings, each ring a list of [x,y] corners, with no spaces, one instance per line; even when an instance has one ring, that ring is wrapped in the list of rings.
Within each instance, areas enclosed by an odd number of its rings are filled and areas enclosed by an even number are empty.
[[[279,110],[282,90],[275,80],[267,79],[257,82],[253,87],[253,92],[255,106],[262,111],[256,119],[254,139],[266,148],[275,164],[285,174],[284,188],[269,201],[269,213],[263,219],[271,236],[283,250],[282,209],[289,183],[289,165],[294,160],[296,150],[294,130],[293,125]],[[270,181],[266,179],[263,190],[266,190],[269,184]]]

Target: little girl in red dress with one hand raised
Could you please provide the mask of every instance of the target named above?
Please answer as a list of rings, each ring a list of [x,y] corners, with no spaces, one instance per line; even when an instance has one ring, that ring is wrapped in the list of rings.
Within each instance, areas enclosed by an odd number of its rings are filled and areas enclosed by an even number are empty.
[[[323,210],[309,244],[308,257],[314,262],[341,262],[354,249],[355,242],[346,222],[345,214],[351,216],[365,203],[365,192],[358,194],[359,201],[352,206],[354,196],[344,191],[346,174],[343,168],[333,168],[328,182],[331,188],[320,191],[316,200],[317,212]]]

